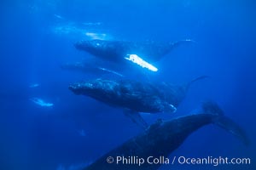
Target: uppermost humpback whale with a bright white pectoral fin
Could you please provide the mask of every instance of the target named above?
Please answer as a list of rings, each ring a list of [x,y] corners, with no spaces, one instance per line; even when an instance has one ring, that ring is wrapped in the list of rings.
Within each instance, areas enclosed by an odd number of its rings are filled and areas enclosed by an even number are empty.
[[[74,44],[75,48],[95,55],[114,63],[124,65],[131,61],[150,71],[158,69],[148,62],[156,62],[164,55],[172,51],[173,48],[184,42],[193,42],[192,40],[181,40],[177,42],[125,42],[108,40],[90,40],[79,41]]]

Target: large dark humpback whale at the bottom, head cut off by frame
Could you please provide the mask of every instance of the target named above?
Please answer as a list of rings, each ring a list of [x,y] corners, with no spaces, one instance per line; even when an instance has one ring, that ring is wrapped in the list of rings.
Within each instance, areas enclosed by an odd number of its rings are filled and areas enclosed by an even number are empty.
[[[155,122],[143,133],[110,150],[90,166],[84,167],[84,170],[154,170],[163,164],[172,166],[172,161],[168,161],[168,156],[172,151],[176,150],[189,137],[189,134],[211,123],[223,127],[241,139],[244,144],[249,144],[247,134],[236,122],[224,116],[224,112],[216,103],[206,102],[202,105],[201,113],[182,116],[166,122],[161,120]],[[125,158],[126,162],[129,159],[130,163],[121,161]],[[165,159],[160,160],[161,163],[152,163],[153,158]]]

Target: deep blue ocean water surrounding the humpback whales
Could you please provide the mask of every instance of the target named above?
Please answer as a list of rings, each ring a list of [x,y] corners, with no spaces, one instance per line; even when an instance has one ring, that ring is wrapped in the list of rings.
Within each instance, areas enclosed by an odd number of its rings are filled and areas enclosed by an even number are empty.
[[[143,75],[172,83],[201,75],[210,78],[189,88],[175,114],[143,114],[143,118],[154,122],[185,116],[197,111],[201,101],[212,99],[244,127],[251,144],[244,146],[230,133],[209,125],[192,133],[170,156],[248,157],[251,164],[176,164],[160,169],[256,169],[254,1],[6,0],[0,4],[0,169],[80,169],[143,132],[121,109],[68,89],[72,82],[108,77],[61,69],[63,63],[91,59],[73,44],[94,38],[195,41],[160,59],[155,64],[158,72]],[[136,71],[131,68],[126,74],[137,79]],[[35,99],[49,105],[38,105]]]

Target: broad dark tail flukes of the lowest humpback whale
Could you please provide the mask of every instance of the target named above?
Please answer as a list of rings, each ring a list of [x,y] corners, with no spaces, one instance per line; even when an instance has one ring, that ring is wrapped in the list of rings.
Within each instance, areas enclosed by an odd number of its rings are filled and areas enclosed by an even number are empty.
[[[204,102],[202,109],[204,113],[212,115],[213,124],[224,128],[238,139],[241,139],[244,144],[249,145],[250,142],[244,129],[240,127],[236,122],[233,122],[229,117],[224,116],[224,111],[222,111],[215,102]]]

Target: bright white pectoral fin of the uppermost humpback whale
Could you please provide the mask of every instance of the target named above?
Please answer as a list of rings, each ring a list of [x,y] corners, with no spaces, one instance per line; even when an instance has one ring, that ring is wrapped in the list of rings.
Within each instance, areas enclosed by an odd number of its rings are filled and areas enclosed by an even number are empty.
[[[140,65],[143,68],[147,68],[149,71],[158,71],[158,69],[154,65],[151,65],[146,60],[139,57],[137,54],[127,54],[127,57],[125,57],[125,59],[131,61],[132,63]]]

